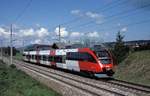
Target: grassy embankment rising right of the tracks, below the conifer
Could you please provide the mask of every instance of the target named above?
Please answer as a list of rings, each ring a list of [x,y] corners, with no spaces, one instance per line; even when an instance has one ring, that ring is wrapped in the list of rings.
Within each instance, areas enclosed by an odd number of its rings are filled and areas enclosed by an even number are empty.
[[[117,66],[115,78],[150,86],[150,50],[133,52]]]

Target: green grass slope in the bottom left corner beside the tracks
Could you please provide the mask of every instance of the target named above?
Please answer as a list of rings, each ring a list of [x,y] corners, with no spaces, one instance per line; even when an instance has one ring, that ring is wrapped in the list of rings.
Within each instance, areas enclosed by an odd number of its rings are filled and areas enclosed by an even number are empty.
[[[0,61],[0,96],[59,96],[15,66]]]

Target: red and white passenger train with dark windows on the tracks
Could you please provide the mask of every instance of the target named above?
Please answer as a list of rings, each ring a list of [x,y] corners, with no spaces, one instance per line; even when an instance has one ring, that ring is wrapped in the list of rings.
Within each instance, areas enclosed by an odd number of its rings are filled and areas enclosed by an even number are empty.
[[[56,68],[90,73],[97,77],[111,77],[113,58],[106,49],[93,51],[90,48],[25,51],[24,61]]]

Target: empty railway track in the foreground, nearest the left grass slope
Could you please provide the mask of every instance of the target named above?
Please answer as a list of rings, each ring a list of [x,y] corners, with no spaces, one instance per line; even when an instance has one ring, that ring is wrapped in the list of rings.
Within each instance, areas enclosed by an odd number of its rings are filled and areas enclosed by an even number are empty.
[[[57,74],[57,73],[54,73],[51,71],[44,70],[43,68],[36,66],[36,65],[25,65],[25,64],[20,64],[20,65],[29,69],[29,70],[35,71],[37,73],[40,73],[40,74],[43,74],[45,76],[54,78],[54,79],[61,81],[65,84],[68,84],[70,86],[78,88],[78,89],[80,89],[84,92],[87,92],[93,96],[101,96],[101,95],[102,96],[125,96],[124,94],[112,91],[110,89],[105,89],[102,87],[94,86],[92,84],[89,84],[87,82],[83,82],[81,80],[66,77],[63,74],[60,75],[60,74]]]

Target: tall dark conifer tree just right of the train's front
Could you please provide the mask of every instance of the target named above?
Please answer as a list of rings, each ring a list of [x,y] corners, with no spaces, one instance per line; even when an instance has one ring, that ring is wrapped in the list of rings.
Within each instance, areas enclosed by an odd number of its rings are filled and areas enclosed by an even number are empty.
[[[116,58],[117,64],[124,60],[129,52],[129,48],[124,45],[124,36],[119,31],[116,36],[116,43],[113,49],[114,56]]]

